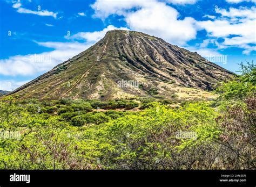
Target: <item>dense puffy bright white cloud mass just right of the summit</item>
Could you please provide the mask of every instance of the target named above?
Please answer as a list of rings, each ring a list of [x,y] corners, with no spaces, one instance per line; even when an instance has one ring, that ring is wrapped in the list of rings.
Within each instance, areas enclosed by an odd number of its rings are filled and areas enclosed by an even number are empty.
[[[183,45],[196,38],[196,20],[186,17],[178,20],[179,13],[171,6],[156,3],[129,13],[125,21],[131,30],[156,35],[172,44]]]

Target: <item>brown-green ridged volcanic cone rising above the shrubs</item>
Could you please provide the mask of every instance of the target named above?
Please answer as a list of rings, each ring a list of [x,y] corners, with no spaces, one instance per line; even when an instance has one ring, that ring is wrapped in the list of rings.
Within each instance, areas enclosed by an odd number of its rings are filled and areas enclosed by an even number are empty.
[[[86,51],[11,94],[22,98],[203,97],[234,74],[197,53],[141,32],[113,30]]]

